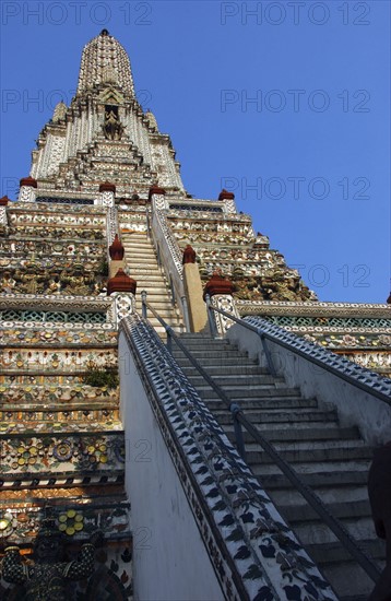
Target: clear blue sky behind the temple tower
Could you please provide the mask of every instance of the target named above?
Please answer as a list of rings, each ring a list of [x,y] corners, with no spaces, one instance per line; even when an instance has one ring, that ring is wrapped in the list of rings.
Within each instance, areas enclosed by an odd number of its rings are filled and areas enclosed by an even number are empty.
[[[225,187],[321,300],[390,286],[390,2],[1,3],[1,196],[107,27],[194,198]]]

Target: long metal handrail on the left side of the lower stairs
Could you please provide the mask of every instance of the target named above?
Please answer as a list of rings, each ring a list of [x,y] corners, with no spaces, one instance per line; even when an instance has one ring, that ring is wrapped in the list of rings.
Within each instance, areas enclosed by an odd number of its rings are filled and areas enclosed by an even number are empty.
[[[281,457],[279,451],[274,448],[274,446],[266,440],[262,434],[259,432],[258,428],[256,428],[251,422],[246,417],[242,410],[237,403],[234,403],[229,397],[224,392],[224,390],[214,381],[214,379],[203,369],[203,367],[199,364],[199,362],[192,356],[190,351],[185,346],[185,344],[179,340],[179,338],[174,332],[173,328],[166,323],[166,321],[146,303],[146,298],[144,297],[142,299],[143,305],[143,317],[146,318],[146,308],[152,311],[152,314],[156,317],[156,319],[159,321],[159,323],[165,328],[167,332],[167,349],[169,352],[171,352],[171,339],[176,342],[176,344],[179,346],[179,349],[183,352],[183,354],[188,357],[190,363],[196,367],[196,369],[199,372],[199,374],[205,379],[205,381],[211,386],[211,388],[217,393],[217,396],[221,398],[221,400],[227,405],[229,411],[233,413],[234,416],[234,424],[235,424],[235,434],[237,436],[237,447],[241,455],[241,451],[244,455],[242,458],[245,458],[245,444],[242,438],[242,432],[240,428],[240,424],[247,429],[247,432],[254,438],[254,440],[261,445],[261,447],[264,449],[264,451],[271,457],[271,459],[274,461],[274,463],[281,469],[281,471],[284,473],[284,475],[289,480],[289,482],[295,486],[295,488],[304,496],[304,498],[308,502],[310,507],[318,514],[318,516],[321,518],[321,520],[330,528],[330,530],[335,534],[335,537],[339,539],[339,541],[342,543],[342,545],[346,549],[346,551],[354,557],[354,559],[359,564],[359,566],[364,569],[364,571],[369,576],[369,578],[377,582],[381,575],[381,570],[378,568],[378,566],[362,551],[362,549],[357,545],[356,541],[353,539],[353,537],[349,534],[348,530],[336,519],[334,516],[329,511],[324,503],[320,499],[320,497],[313,493],[313,491],[307,486],[303,482],[303,480],[299,478],[298,473],[291,468],[291,466]],[[220,310],[220,309],[217,309]],[[223,313],[229,317],[232,317],[229,314]],[[240,322],[239,319],[234,318],[235,321]],[[256,330],[257,328],[253,328],[252,326],[250,329]],[[236,421],[236,422],[235,422]],[[237,424],[237,425],[236,425]],[[238,432],[237,432],[238,431]]]

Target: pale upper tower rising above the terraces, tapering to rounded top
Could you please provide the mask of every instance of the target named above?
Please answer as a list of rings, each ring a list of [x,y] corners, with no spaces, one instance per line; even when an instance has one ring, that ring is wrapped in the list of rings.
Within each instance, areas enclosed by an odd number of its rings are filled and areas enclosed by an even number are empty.
[[[170,140],[143,113],[128,55],[107,30],[85,46],[76,95],[70,107],[57,105],[42,131],[31,175],[46,189],[83,197],[96,195],[106,180],[121,199],[135,190],[147,197],[157,181],[183,193]]]

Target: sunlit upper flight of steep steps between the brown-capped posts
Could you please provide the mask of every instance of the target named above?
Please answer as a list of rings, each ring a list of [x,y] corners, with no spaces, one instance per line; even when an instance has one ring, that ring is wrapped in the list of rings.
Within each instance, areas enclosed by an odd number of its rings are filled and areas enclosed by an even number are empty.
[[[179,311],[171,303],[171,294],[164,271],[157,263],[155,249],[145,232],[122,232],[128,273],[138,283],[135,310],[141,314],[141,292],[146,291],[146,302],[174,328],[182,331]],[[158,334],[165,332],[163,326],[150,313],[149,320]]]

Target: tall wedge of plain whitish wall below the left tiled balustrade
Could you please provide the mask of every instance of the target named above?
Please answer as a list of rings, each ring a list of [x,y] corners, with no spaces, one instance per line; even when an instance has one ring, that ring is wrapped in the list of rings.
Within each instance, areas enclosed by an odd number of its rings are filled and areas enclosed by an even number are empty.
[[[220,584],[122,333],[119,357],[134,600],[221,601]]]

